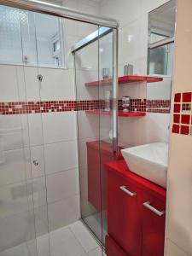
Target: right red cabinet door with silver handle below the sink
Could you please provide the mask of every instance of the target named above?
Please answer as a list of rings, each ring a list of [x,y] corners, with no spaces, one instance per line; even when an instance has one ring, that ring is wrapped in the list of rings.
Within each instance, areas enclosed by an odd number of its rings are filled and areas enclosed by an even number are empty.
[[[138,196],[142,214],[143,256],[163,256],[165,240],[166,198],[141,191]]]

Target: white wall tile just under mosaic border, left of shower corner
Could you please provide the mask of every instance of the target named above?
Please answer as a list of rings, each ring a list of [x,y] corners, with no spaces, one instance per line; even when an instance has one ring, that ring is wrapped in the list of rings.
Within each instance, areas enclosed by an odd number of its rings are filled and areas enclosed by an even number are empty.
[[[76,133],[76,113],[43,113],[44,143],[74,140]]]

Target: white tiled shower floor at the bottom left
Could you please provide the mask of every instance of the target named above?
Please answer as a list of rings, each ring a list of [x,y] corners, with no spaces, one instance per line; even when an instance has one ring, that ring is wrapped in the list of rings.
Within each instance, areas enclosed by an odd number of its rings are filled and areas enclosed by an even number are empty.
[[[38,256],[48,256],[48,236],[50,241],[50,256],[104,256],[102,248],[94,236],[79,220],[50,234],[37,239]],[[0,253],[0,256],[33,256],[34,241],[20,244]]]

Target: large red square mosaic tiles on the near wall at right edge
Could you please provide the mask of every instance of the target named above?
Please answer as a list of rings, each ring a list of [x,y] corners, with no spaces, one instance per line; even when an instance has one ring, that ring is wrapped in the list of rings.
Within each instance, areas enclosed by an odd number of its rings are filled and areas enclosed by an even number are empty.
[[[192,92],[174,96],[172,133],[192,135]]]

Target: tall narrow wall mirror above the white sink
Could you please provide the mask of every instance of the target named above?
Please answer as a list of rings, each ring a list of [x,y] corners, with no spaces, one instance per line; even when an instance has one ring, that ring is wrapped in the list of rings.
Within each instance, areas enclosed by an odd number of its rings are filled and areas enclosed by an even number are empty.
[[[176,0],[148,13],[148,75],[163,77],[162,82],[148,84],[149,112],[170,112],[175,19]]]

